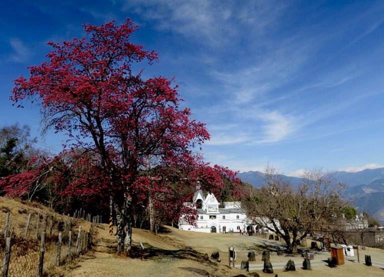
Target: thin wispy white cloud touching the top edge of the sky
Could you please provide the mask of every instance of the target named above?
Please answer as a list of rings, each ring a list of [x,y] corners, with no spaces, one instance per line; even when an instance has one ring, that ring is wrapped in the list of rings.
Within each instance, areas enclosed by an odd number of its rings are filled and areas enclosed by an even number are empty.
[[[202,44],[219,45],[239,35],[240,26],[263,32],[281,14],[284,5],[274,1],[241,4],[232,1],[126,0],[123,11],[133,11],[156,22],[160,30],[198,38]]]

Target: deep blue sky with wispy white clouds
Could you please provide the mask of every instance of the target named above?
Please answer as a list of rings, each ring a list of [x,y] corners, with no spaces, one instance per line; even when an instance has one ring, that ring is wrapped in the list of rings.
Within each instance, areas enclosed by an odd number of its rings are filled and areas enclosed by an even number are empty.
[[[384,2],[66,0],[0,2],[0,125],[39,135],[36,106],[8,100],[12,80],[81,36],[81,24],[140,26],[133,41],[159,52],[145,76],[175,76],[206,123],[208,161],[285,174],[384,166]],[[41,144],[60,150],[62,136]],[[40,147],[43,147],[40,145]]]

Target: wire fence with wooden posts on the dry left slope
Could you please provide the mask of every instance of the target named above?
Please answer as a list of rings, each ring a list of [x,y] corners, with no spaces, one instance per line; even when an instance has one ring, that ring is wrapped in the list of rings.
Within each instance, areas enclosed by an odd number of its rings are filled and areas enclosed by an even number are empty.
[[[21,219],[20,219],[21,217]],[[92,246],[95,225],[100,218],[86,216],[86,220],[73,217],[28,214],[14,216],[6,212],[0,217],[1,276],[42,276],[87,252]],[[84,217],[85,218],[85,217]],[[25,219],[24,222],[23,219]],[[82,229],[89,227],[86,231]],[[2,259],[1,259],[2,258]]]

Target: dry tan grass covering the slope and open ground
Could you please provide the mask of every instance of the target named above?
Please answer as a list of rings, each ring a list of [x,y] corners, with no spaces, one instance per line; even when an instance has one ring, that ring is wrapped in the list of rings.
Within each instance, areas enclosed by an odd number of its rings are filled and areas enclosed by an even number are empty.
[[[39,204],[29,205],[10,198],[0,197],[0,224],[5,222],[5,212],[10,212],[11,225],[19,226],[23,230],[28,213],[53,214],[57,220],[67,220],[66,216],[53,213],[49,208]],[[31,228],[35,228],[34,220]],[[78,222],[83,229],[90,227],[89,222]],[[256,261],[251,264],[262,264],[261,251],[270,248],[267,244],[251,240],[238,234],[199,233],[182,231],[167,227],[165,232],[158,235],[147,230],[133,229],[132,257],[117,256],[115,254],[115,236],[110,236],[106,224],[99,224],[96,228],[95,247],[92,251],[77,259],[66,260],[60,267],[51,268],[49,276],[235,276],[248,275],[244,270],[229,268],[227,263],[228,246],[234,246],[237,252],[236,264],[247,259],[249,250],[256,253]],[[140,259],[139,242],[145,249],[143,260]],[[273,249],[271,249],[273,250]],[[218,251],[221,263],[209,259],[213,251]],[[384,251],[375,248],[360,250],[360,263],[348,261],[345,265],[329,268],[324,265],[313,266],[313,270],[301,269],[302,258],[293,257],[296,271],[286,272],[274,269],[279,276],[383,276],[384,270],[377,266],[365,266],[364,254],[370,254],[373,261],[384,263]],[[286,263],[292,257],[277,255],[271,252],[271,263]],[[384,266],[383,266],[384,267]],[[256,270],[260,276],[273,276]]]

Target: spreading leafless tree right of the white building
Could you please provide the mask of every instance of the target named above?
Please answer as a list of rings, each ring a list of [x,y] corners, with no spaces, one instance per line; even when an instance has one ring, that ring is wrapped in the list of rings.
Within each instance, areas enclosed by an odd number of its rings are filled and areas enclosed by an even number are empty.
[[[293,188],[274,168],[265,169],[266,186],[250,189],[244,208],[250,218],[284,239],[287,250],[297,253],[299,241],[333,220],[345,203],[345,188],[321,170],[306,171]]]

